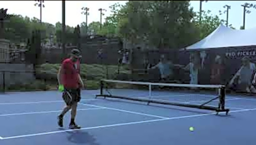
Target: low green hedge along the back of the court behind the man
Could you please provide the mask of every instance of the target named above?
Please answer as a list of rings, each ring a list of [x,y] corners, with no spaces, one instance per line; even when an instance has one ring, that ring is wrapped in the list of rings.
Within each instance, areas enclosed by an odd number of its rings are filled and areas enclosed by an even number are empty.
[[[55,90],[57,87],[57,73],[60,64],[42,64],[36,66],[36,81],[30,84],[15,84],[6,87],[6,91],[35,91],[35,90]],[[118,66],[108,66],[108,79],[118,78]],[[99,64],[81,64],[81,77],[85,82],[86,89],[98,89],[101,79],[106,77],[106,66]],[[130,71],[128,66],[120,67],[120,73],[128,76]],[[46,80],[46,82],[45,82]]]

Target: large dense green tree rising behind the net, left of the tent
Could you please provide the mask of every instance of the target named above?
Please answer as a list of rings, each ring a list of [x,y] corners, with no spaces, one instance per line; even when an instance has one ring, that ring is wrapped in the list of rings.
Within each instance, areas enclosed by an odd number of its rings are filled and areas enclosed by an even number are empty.
[[[182,48],[195,41],[189,1],[129,1],[120,9],[118,33],[133,43]]]

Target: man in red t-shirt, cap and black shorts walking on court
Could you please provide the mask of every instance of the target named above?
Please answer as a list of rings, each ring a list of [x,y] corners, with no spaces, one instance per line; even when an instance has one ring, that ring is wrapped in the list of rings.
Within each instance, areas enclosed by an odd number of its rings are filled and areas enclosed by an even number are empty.
[[[63,117],[65,113],[71,110],[71,121],[69,124],[70,129],[80,129],[81,126],[76,125],[75,115],[77,103],[80,101],[80,88],[84,87],[80,76],[80,62],[79,58],[80,51],[78,49],[73,49],[71,51],[71,57],[64,60],[59,69],[58,82],[59,86],[63,86],[62,98],[66,103],[66,107],[63,109],[62,113],[58,116],[58,125],[63,127]]]

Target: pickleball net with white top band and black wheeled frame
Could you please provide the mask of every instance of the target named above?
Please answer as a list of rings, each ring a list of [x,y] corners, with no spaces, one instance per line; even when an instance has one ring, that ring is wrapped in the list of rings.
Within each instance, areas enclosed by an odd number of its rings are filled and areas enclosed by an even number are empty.
[[[213,93],[214,92],[214,93]],[[141,101],[148,104],[166,104],[219,112],[225,108],[224,85],[194,85],[153,82],[132,82],[104,79],[97,97]]]

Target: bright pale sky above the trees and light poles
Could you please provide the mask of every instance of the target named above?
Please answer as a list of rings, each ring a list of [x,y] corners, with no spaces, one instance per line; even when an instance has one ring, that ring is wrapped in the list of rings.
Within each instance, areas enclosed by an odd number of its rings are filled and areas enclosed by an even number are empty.
[[[109,6],[114,3],[125,4],[127,1],[75,1],[66,0],[66,25],[75,27],[82,22],[85,22],[85,15],[82,15],[82,7],[89,8],[88,23],[93,21],[100,21],[100,12],[98,9],[106,9],[105,15],[102,17],[102,22],[105,21],[105,17],[111,14]],[[229,9],[229,24],[236,29],[239,29],[243,25],[243,7],[244,3],[256,4],[256,1],[229,1],[229,0],[209,0],[202,3],[203,10],[210,10],[212,15],[218,15],[220,19],[226,20],[226,14],[219,15],[219,10],[226,10],[223,8],[225,5],[231,6]],[[30,18],[40,18],[40,9],[38,6],[34,6],[35,0],[27,1],[0,1],[1,8],[8,9],[7,13],[20,14],[22,16],[28,16]],[[45,7],[42,10],[42,21],[48,22],[53,25],[56,22],[62,22],[62,1],[61,0],[45,0]],[[193,7],[194,11],[199,11],[200,1],[190,1],[190,7]],[[251,13],[246,14],[245,28],[256,27],[256,9],[250,8]]]

